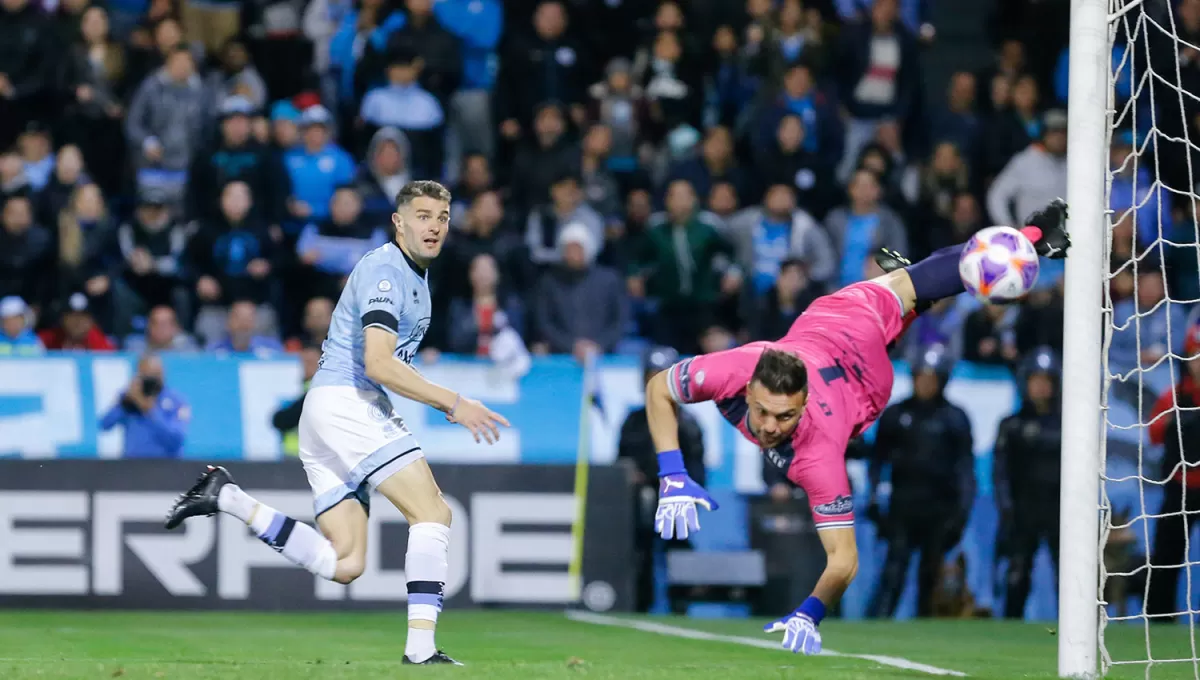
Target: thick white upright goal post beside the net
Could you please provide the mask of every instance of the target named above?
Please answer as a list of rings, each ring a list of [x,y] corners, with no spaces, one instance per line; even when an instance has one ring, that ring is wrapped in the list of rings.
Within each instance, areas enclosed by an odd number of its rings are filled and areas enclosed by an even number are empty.
[[[1058,675],[1099,673],[1102,369],[1111,103],[1110,0],[1072,0],[1067,128],[1070,255],[1063,302]]]

